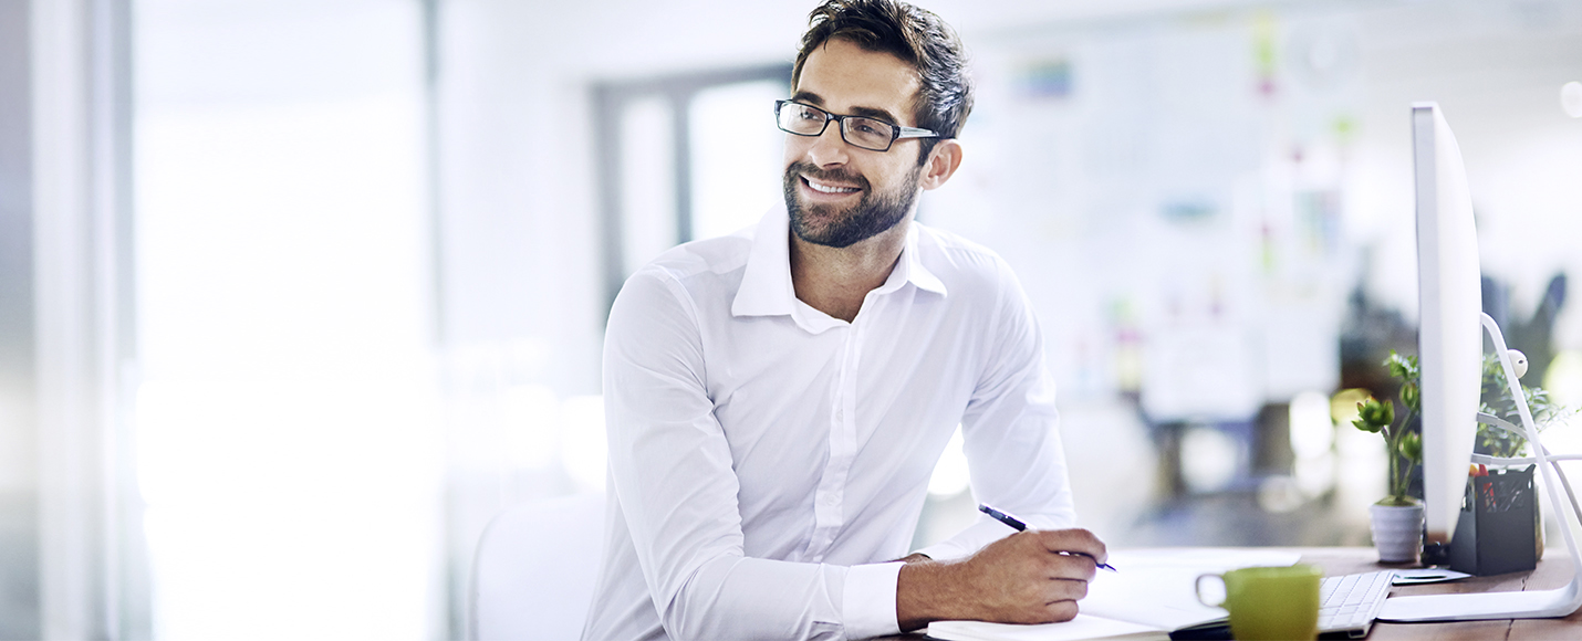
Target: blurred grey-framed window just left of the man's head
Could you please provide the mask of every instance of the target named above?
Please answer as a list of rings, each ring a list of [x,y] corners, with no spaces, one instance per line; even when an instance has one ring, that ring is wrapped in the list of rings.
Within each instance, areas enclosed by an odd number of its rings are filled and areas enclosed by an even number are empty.
[[[772,103],[791,66],[595,87],[607,302],[664,249],[734,232],[780,197]]]

